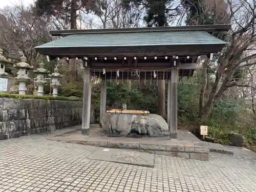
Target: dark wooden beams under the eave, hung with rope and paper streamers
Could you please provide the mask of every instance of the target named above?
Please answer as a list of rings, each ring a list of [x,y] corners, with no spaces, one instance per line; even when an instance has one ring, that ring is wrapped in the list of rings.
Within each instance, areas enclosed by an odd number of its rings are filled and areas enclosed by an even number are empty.
[[[167,79],[173,68],[179,69],[180,76],[189,76],[189,71],[197,69],[197,63],[191,63],[192,60],[195,61],[196,58],[188,56],[170,58],[126,57],[125,59],[86,58],[84,62],[90,67],[92,76],[100,76],[102,79],[152,79],[154,73],[158,79]],[[158,66],[157,69],[155,66]],[[105,74],[103,74],[103,70]],[[119,76],[117,76],[117,71]]]

